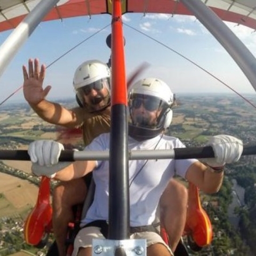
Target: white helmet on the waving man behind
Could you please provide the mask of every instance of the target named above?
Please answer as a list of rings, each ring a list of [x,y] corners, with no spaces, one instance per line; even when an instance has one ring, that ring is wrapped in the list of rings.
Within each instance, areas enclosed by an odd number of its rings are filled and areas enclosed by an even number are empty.
[[[108,66],[99,60],[89,60],[83,62],[75,71],[73,86],[76,91],[76,99],[79,106],[83,106],[83,95],[79,93],[79,89],[92,84],[96,81],[106,78],[108,83],[105,83],[108,92],[110,93],[110,69]],[[110,96],[108,95],[106,102],[110,102]]]

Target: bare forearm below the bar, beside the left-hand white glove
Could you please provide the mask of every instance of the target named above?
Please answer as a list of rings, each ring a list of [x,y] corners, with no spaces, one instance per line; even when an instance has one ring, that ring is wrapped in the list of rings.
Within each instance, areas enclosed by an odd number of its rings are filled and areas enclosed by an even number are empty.
[[[68,181],[81,178],[87,173],[93,171],[96,167],[95,161],[76,161],[57,172],[54,179]]]

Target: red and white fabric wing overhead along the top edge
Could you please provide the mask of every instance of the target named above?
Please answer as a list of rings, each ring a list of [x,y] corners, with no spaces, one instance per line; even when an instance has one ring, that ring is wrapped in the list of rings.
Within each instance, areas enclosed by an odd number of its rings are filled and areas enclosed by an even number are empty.
[[[0,0],[0,32],[17,27],[25,16],[43,0]],[[256,30],[255,0],[202,0],[222,20]],[[65,19],[84,15],[111,14],[111,0],[60,0],[46,15],[44,21]],[[171,15],[191,12],[175,0],[124,0],[122,13],[169,13]]]

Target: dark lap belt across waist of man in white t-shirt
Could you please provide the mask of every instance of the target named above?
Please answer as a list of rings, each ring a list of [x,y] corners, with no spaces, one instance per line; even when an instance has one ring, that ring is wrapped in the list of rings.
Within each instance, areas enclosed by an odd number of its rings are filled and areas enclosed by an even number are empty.
[[[157,226],[159,226],[160,223],[154,223],[153,225],[146,225],[146,226],[139,226],[139,227],[130,227],[130,234],[133,233],[141,233],[141,232],[155,232],[159,235],[159,231],[157,229]],[[100,228],[101,234],[107,238],[108,237],[108,223],[106,220],[94,220],[90,223],[87,223],[82,228],[87,227],[98,227]]]

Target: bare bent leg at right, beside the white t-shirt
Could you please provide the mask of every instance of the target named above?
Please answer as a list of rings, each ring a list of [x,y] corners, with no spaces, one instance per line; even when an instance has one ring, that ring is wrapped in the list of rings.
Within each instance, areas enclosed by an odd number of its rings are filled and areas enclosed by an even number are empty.
[[[186,224],[188,191],[180,182],[171,179],[160,199],[161,220],[174,252]]]

